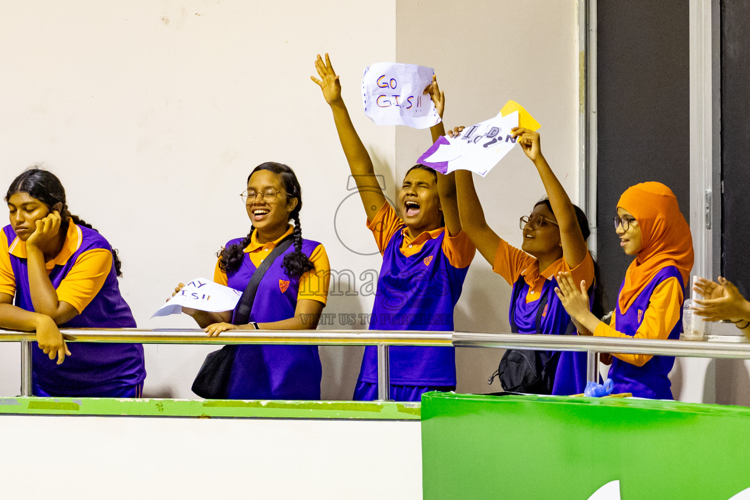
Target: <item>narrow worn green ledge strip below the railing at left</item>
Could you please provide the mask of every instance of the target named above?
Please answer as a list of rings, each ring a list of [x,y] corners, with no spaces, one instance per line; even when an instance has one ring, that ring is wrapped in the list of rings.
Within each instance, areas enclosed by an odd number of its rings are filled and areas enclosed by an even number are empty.
[[[420,403],[0,397],[0,414],[419,420]]]

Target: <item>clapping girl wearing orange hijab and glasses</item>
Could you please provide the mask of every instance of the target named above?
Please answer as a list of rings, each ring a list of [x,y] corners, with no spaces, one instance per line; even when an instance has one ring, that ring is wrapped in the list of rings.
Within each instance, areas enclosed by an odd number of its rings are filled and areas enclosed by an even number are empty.
[[[660,182],[628,187],[617,202],[614,225],[620,246],[635,256],[619,289],[610,325],[589,311],[587,285],[561,273],[555,290],[568,314],[598,337],[679,339],[685,283],[693,267],[690,226],[679,211],[676,196]],[[613,354],[609,376],[614,392],[670,400],[667,378],[670,356]]]

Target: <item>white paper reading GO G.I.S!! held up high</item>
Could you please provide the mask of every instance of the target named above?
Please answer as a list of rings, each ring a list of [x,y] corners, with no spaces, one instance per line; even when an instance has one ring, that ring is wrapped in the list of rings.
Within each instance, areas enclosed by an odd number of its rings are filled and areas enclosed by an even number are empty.
[[[419,64],[379,62],[362,73],[365,115],[378,125],[428,128],[440,123],[429,94],[422,94],[435,71]]]

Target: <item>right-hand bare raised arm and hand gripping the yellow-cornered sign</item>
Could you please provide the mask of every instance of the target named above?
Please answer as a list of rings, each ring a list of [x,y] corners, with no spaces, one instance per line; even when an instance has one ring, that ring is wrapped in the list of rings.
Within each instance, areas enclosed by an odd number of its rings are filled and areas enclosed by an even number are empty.
[[[547,191],[547,198],[549,198],[552,206],[552,213],[555,214],[559,224],[562,256],[565,257],[565,262],[571,269],[575,268],[583,262],[586,252],[589,250],[586,247],[586,240],[583,239],[583,233],[580,232],[573,203],[554,172],[552,172],[549,163],[544,159],[544,155],[541,154],[539,134],[519,127],[514,128],[512,132],[514,137],[518,137],[520,147],[529,157],[529,160],[534,162],[534,166],[539,172],[541,183],[544,184],[544,190]]]

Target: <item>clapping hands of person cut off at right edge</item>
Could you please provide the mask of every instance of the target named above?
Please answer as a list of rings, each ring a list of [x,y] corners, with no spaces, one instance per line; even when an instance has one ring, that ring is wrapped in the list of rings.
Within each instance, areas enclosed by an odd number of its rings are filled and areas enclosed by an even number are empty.
[[[719,276],[718,283],[698,278],[693,289],[706,297],[703,300],[696,299],[691,306],[693,314],[703,316],[704,321],[750,320],[750,302],[726,278]]]

